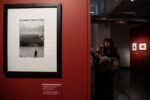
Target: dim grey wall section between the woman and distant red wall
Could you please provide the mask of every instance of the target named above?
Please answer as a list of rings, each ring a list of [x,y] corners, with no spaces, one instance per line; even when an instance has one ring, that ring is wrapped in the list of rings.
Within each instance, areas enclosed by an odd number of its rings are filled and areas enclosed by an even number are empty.
[[[129,36],[132,24],[111,24],[111,36],[118,48],[121,66],[130,67]]]

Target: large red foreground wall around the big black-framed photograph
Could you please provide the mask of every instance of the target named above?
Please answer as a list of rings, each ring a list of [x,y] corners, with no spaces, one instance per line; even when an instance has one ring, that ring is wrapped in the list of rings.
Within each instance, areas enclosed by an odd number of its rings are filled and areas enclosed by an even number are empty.
[[[0,100],[49,100],[42,84],[62,84],[62,100],[90,99],[90,0],[0,0]],[[3,5],[62,3],[62,78],[6,78],[3,74]]]

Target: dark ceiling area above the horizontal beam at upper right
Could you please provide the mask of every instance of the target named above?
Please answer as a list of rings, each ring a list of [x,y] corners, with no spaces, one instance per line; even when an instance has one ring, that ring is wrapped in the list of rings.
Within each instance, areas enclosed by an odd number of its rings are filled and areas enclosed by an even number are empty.
[[[150,19],[150,0],[123,0],[107,17]]]

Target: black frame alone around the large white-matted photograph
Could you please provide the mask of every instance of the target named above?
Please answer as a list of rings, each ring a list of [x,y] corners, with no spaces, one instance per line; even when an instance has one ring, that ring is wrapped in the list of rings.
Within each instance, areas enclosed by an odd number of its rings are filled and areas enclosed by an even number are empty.
[[[57,8],[57,72],[8,70],[8,10],[32,8]],[[8,78],[62,78],[62,5],[58,4],[5,4],[3,22],[3,69]]]

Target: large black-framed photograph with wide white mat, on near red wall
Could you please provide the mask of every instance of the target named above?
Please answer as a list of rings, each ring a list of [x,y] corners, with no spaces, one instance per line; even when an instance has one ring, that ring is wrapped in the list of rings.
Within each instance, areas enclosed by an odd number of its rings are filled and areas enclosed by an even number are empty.
[[[7,77],[62,77],[61,4],[4,5]]]

